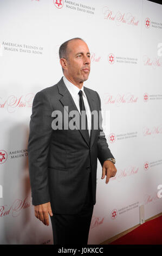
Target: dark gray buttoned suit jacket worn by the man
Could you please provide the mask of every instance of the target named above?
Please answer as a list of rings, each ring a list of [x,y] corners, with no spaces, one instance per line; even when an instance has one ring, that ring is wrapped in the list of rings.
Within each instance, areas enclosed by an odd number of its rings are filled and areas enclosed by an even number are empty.
[[[84,90],[90,111],[99,113],[99,94]],[[93,204],[96,202],[97,159],[103,165],[113,155],[102,129],[93,129],[93,115],[90,143],[85,130],[53,130],[51,113],[57,109],[64,116],[64,106],[69,112],[78,111],[62,78],[34,97],[28,143],[31,196],[33,205],[50,201],[54,214],[77,214],[86,199],[90,173]],[[102,127],[102,118],[99,122]]]

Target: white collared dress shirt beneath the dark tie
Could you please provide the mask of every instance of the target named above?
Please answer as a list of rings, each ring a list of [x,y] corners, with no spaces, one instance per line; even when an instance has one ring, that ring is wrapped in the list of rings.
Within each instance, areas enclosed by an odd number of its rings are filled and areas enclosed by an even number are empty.
[[[75,105],[76,105],[78,111],[80,112],[80,106],[79,106],[80,97],[78,94],[80,89],[77,86],[75,86],[73,83],[71,83],[69,80],[67,80],[67,78],[65,76],[63,76],[63,82],[66,85],[67,89],[69,90],[69,93],[72,95]],[[83,88],[84,88],[84,86],[82,86],[81,90],[82,90],[83,101],[84,101],[86,113],[87,113],[87,123],[88,123],[87,125],[88,125],[89,137],[90,137],[92,116],[91,116],[87,96],[86,96]]]

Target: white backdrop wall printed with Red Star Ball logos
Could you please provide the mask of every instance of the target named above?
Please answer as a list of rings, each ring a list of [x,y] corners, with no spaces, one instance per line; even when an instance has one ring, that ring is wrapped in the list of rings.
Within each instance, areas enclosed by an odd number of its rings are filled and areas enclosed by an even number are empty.
[[[80,37],[91,53],[85,86],[109,115],[106,138],[118,172],[98,163],[89,244],[162,211],[162,5],[146,0],[0,0],[0,243],[52,244],[34,215],[28,136],[35,94],[62,77],[59,46]],[[103,125],[106,117],[103,115]],[[41,129],[41,127],[40,127]],[[77,227],[76,227],[77,228]]]

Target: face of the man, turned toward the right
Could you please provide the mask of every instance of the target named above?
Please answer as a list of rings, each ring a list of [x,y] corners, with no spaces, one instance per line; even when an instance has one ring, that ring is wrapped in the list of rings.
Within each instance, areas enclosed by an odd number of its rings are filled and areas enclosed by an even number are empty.
[[[87,44],[80,39],[70,41],[67,55],[67,69],[64,74],[76,83],[86,81],[90,72],[90,53]]]

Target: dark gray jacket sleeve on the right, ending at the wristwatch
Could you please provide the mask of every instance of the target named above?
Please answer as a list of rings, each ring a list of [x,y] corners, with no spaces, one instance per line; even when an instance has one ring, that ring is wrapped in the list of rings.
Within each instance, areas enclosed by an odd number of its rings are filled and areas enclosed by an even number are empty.
[[[106,161],[108,158],[114,158],[112,155],[110,149],[108,148],[108,144],[105,138],[105,133],[103,132],[102,128],[102,115],[101,115],[101,100],[99,94],[96,92],[99,99],[99,138],[98,138],[98,159],[101,163],[101,166],[103,166],[103,162]]]

